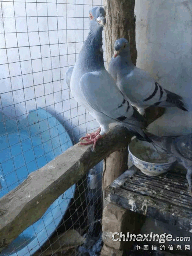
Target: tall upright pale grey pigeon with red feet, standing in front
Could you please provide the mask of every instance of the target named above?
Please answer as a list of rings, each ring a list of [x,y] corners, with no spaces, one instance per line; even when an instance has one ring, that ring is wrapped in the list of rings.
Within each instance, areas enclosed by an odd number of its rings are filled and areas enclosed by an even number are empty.
[[[94,7],[89,12],[90,31],[73,68],[70,90],[75,100],[100,124],[94,133],[80,138],[80,145],[93,144],[109,130],[110,123],[121,123],[137,137],[144,137],[144,118],[126,100],[104,66],[102,30],[105,10]],[[149,141],[149,140],[148,140]]]

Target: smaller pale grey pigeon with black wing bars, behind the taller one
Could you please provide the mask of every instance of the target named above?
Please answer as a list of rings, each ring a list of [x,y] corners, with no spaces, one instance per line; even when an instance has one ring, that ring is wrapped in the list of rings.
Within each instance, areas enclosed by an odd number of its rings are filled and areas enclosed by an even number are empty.
[[[141,115],[149,106],[177,107],[183,111],[182,97],[163,89],[150,74],[137,68],[131,61],[130,44],[125,38],[115,41],[115,51],[108,66],[108,72],[117,87],[135,106]]]

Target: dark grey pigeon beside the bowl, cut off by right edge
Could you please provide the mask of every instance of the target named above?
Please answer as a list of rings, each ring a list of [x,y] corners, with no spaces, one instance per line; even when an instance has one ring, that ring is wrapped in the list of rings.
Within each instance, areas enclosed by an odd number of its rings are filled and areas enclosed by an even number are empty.
[[[173,155],[177,162],[182,164],[187,169],[186,178],[189,184],[191,193],[191,179],[192,179],[192,134],[180,136],[167,136],[159,137],[146,132],[147,136],[160,148],[166,150],[169,154]]]

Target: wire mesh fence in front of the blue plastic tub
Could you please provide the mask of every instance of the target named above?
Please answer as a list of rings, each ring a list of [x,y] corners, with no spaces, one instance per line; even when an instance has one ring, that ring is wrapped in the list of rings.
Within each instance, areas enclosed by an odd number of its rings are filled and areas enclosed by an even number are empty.
[[[1,1],[0,197],[98,128],[64,78],[87,37],[89,10],[98,5],[103,0]],[[97,255],[101,172],[102,163],[62,194],[2,256],[79,255],[90,248]],[[84,247],[78,247],[82,241]]]

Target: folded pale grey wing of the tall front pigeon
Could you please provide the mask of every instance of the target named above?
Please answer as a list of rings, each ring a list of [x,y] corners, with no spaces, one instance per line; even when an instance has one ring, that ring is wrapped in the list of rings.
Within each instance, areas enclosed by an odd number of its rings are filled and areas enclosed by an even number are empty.
[[[119,122],[141,126],[143,117],[136,116],[106,70],[85,73],[80,79],[80,88],[84,100],[97,112]]]

